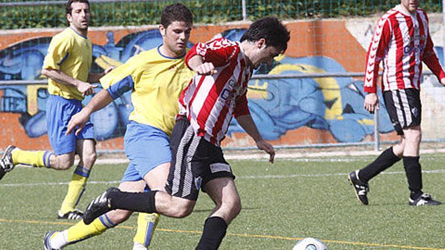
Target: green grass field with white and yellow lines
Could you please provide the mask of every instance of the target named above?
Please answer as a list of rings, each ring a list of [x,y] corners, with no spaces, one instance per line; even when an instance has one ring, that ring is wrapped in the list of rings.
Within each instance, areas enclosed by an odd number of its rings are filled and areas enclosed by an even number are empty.
[[[243,210],[221,249],[291,249],[316,237],[329,249],[445,249],[445,206],[408,206],[402,163],[370,182],[362,206],[346,174],[373,157],[230,161]],[[422,155],[424,190],[445,201],[445,155]],[[125,165],[96,165],[79,208],[117,181]],[[56,219],[72,171],[16,168],[0,182],[0,249],[41,249],[43,234],[72,221]],[[151,249],[194,249],[213,203],[201,193],[194,213],[162,217]],[[136,214],[100,236],[67,249],[131,249]]]

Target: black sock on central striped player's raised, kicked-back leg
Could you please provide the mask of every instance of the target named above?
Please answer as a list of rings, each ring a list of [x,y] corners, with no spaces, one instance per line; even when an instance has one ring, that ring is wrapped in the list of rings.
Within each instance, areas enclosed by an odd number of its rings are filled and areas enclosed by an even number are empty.
[[[124,209],[143,213],[157,213],[155,206],[155,194],[157,191],[141,193],[111,192],[111,208]]]

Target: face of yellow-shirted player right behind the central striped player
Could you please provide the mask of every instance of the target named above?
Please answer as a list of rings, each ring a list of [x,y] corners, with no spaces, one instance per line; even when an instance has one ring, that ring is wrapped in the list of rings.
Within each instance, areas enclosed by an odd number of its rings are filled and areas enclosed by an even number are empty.
[[[166,53],[176,56],[184,55],[192,30],[191,25],[183,21],[173,21],[166,29],[161,25],[159,30],[167,50]]]

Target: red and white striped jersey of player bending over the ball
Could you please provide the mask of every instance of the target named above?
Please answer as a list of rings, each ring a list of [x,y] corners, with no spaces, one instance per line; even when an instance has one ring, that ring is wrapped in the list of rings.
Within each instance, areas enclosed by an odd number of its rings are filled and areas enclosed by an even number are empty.
[[[239,42],[226,38],[197,43],[186,55],[187,65],[195,55],[211,62],[217,73],[195,74],[180,95],[179,116],[190,120],[198,136],[219,145],[233,115],[250,115],[246,93],[253,69],[247,65]]]

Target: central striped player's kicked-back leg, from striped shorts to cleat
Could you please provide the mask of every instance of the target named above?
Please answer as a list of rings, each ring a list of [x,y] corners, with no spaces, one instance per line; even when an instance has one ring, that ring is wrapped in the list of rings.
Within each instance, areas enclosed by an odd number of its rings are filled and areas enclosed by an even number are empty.
[[[86,224],[91,223],[98,216],[113,209],[160,213],[175,218],[188,216],[196,204],[197,189],[199,190],[194,183],[195,179],[189,165],[194,153],[192,149],[199,140],[193,140],[197,137],[189,125],[187,120],[180,120],[173,128],[172,161],[166,185],[167,193],[157,190],[129,193],[109,188],[88,205],[83,221]],[[191,146],[192,144],[195,146]]]

